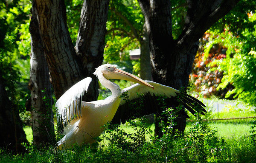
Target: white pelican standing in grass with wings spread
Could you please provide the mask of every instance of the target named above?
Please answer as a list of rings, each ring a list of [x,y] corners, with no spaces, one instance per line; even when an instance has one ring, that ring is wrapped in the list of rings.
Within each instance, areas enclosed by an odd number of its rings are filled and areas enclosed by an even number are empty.
[[[59,149],[72,147],[73,144],[81,146],[82,144],[94,143],[95,138],[104,131],[104,127],[102,126],[112,121],[119,106],[125,106],[126,101],[120,98],[123,92],[126,92],[131,100],[137,98],[137,93],[143,93],[152,97],[163,95],[168,98],[180,94],[179,90],[156,82],[143,81],[139,77],[110,64],[99,66],[93,74],[98,77],[99,82],[103,86],[111,90],[112,95],[104,100],[82,101],[81,97],[84,95],[84,91],[87,92],[88,86],[92,81],[90,77],[87,77],[73,85],[73,87],[58,99],[55,107],[57,107],[58,123],[63,126],[61,134],[64,135],[58,141]],[[111,82],[109,79],[122,79],[137,84],[121,90],[117,84]],[[181,102],[183,106],[190,112],[195,113],[193,110],[195,106],[200,106],[201,110],[206,112],[203,108],[205,105],[198,99],[187,94],[180,98],[182,98]]]

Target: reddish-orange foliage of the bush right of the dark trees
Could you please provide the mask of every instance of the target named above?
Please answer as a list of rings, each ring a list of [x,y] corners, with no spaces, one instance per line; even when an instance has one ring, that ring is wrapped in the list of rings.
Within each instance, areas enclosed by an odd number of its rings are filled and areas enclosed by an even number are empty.
[[[201,94],[204,98],[210,96],[225,97],[227,90],[232,89],[227,85],[225,90],[216,90],[223,77],[223,72],[216,70],[216,60],[226,58],[226,47],[215,40],[209,40],[209,33],[205,33],[200,39],[200,45],[195,56],[192,73],[189,76],[191,90]],[[199,96],[197,94],[197,97]]]

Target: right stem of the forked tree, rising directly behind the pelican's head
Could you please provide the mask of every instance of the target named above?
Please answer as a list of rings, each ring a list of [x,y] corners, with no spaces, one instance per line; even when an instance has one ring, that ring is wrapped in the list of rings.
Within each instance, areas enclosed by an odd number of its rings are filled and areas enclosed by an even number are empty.
[[[93,72],[103,61],[108,4],[109,0],[84,0],[81,10],[76,53],[82,61],[82,71],[93,79],[83,98],[87,101],[98,98],[99,83]]]

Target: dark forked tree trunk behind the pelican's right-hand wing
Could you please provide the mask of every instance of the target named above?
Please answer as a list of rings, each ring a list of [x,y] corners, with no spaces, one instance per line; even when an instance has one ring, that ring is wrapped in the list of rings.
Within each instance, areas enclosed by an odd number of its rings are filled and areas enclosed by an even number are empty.
[[[198,39],[216,21],[226,15],[239,0],[187,0],[186,21],[177,40],[172,37],[172,14],[169,0],[138,0],[147,27],[152,77],[154,82],[176,89],[186,87]],[[186,119],[177,120],[177,129],[184,131]]]

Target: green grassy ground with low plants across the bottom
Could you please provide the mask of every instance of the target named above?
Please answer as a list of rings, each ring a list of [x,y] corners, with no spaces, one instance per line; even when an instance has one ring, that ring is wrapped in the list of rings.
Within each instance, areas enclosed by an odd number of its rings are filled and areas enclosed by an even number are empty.
[[[64,151],[56,150],[52,146],[47,148],[35,148],[27,146],[28,153],[23,155],[10,155],[0,149],[1,163],[26,163],[26,162],[173,162],[173,163],[255,163],[256,162],[256,143],[250,138],[250,127],[253,126],[253,119],[235,119],[209,121],[216,118],[235,118],[255,116],[256,112],[247,109],[239,110],[229,108],[229,111],[208,112],[202,116],[207,125],[195,127],[195,117],[189,115],[192,121],[187,122],[186,131],[181,138],[161,138],[158,141],[149,141],[144,143],[129,142],[122,134],[112,135],[114,141],[104,140],[99,146],[75,146],[73,149]],[[154,124],[149,126],[154,130]],[[191,129],[193,128],[193,129]],[[119,127],[126,133],[134,133],[134,128],[127,124]],[[217,132],[214,132],[213,130]],[[27,139],[32,141],[31,127],[24,128]],[[114,132],[113,132],[114,133]],[[117,132],[115,132],[117,133]],[[186,132],[185,132],[186,133]],[[105,138],[110,134],[105,134]],[[118,139],[121,135],[121,139]],[[152,133],[151,135],[154,135]],[[146,140],[150,135],[145,135]],[[224,138],[221,138],[224,137]],[[124,138],[122,140],[122,138]],[[135,141],[142,141],[139,137]],[[131,138],[129,138],[131,140]],[[142,144],[142,145],[141,145]]]

